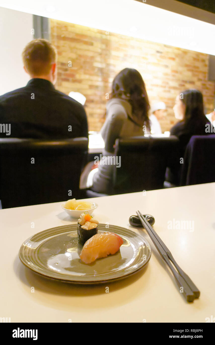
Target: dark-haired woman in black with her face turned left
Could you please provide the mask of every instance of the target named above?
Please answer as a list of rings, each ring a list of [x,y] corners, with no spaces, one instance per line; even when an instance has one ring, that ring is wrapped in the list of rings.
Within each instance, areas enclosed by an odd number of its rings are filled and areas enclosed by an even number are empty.
[[[186,146],[193,135],[206,135],[206,125],[210,124],[204,115],[202,93],[195,89],[185,90],[176,97],[173,111],[179,121],[170,129],[170,135],[179,138],[179,151],[169,161],[166,170],[166,181],[176,186],[180,184],[180,171]]]

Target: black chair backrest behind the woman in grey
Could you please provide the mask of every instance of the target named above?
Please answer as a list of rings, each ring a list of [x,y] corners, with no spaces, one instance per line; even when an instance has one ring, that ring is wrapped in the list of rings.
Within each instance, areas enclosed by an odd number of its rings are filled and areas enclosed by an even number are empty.
[[[121,167],[114,166],[113,193],[163,188],[166,167],[178,143],[175,136],[117,139],[115,154]]]

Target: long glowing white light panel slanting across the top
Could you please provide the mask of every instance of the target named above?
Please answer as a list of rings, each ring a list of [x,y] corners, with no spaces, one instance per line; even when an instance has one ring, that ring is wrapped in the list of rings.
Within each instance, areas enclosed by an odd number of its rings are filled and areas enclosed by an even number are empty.
[[[215,45],[212,43],[214,24],[148,3],[108,0],[107,6],[101,0],[61,0],[59,7],[59,0],[0,0],[0,6],[125,37],[215,55]]]

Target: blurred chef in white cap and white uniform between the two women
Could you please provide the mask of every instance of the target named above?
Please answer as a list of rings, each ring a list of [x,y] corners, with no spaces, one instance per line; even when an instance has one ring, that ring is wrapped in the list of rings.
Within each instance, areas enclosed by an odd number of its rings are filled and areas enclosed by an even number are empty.
[[[149,116],[150,128],[152,134],[162,134],[162,130],[159,121],[163,119],[166,112],[166,106],[164,102],[154,103],[151,107],[151,115]]]

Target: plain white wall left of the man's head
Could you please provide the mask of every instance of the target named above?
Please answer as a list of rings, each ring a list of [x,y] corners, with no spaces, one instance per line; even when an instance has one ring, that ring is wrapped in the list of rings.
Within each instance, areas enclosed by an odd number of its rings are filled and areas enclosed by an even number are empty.
[[[21,53],[33,39],[32,28],[32,14],[0,7],[0,95],[25,86],[29,80]]]

